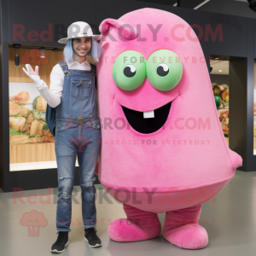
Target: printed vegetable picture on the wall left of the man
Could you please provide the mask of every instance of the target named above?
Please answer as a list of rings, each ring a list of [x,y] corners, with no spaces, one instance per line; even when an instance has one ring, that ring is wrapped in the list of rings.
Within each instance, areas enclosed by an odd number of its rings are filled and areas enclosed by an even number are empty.
[[[55,137],[50,134],[42,116],[42,112],[46,111],[46,101],[43,96],[29,100],[26,90],[9,96],[9,143],[54,143]]]

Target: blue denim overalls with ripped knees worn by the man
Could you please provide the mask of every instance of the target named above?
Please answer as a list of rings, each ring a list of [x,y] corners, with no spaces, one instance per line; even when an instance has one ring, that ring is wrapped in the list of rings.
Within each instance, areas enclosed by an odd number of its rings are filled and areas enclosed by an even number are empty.
[[[56,109],[55,154],[58,170],[56,228],[71,231],[73,177],[76,155],[82,195],[84,229],[96,226],[95,168],[101,147],[101,125],[97,115],[95,73],[69,69],[65,74],[61,103]]]

